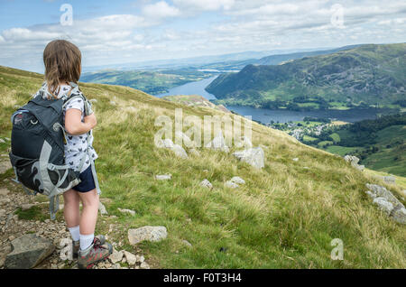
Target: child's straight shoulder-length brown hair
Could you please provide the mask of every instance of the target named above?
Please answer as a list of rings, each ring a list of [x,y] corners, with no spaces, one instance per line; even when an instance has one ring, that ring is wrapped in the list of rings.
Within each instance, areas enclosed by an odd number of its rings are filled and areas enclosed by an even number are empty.
[[[78,83],[81,60],[81,52],[71,42],[54,40],[48,43],[43,51],[43,63],[45,65],[45,80],[52,95],[60,85],[60,81]]]

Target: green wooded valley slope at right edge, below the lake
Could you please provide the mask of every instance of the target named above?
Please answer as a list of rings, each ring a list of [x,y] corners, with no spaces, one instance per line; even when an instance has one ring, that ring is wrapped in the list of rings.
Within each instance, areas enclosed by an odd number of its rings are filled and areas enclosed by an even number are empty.
[[[406,176],[406,113],[330,125],[320,134],[304,133],[300,140],[329,153],[353,154],[371,170]]]

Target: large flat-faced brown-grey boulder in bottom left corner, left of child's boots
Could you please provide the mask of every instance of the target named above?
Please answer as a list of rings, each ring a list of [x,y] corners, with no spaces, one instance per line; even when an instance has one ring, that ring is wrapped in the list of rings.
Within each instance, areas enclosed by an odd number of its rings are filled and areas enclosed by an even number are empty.
[[[11,245],[12,252],[5,257],[7,269],[33,268],[55,250],[50,240],[34,234],[18,237],[11,242]]]

